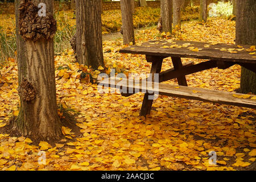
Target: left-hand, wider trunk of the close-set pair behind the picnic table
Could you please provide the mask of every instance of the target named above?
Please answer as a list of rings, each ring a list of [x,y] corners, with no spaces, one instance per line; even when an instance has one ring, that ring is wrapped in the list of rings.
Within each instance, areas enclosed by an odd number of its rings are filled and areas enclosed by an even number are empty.
[[[162,31],[172,32],[172,0],[161,0]]]

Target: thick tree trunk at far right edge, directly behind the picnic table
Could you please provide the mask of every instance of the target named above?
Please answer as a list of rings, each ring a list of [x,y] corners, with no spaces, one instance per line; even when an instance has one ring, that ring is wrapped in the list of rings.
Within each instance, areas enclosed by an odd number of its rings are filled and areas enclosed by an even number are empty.
[[[236,44],[256,45],[255,0],[237,0]],[[256,94],[256,73],[242,67],[241,93]]]

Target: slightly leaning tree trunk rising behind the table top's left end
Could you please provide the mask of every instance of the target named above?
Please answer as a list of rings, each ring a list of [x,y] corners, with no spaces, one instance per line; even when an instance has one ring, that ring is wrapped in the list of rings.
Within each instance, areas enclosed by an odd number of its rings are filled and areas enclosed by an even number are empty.
[[[131,0],[121,0],[123,44],[135,44]]]

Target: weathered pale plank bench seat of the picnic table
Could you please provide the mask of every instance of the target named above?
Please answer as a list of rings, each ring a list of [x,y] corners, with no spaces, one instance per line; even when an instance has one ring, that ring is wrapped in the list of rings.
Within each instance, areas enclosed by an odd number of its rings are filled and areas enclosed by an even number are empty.
[[[217,90],[209,90],[203,88],[191,88],[188,86],[177,86],[170,84],[158,84],[155,86],[154,83],[151,83],[152,86],[146,86],[148,83],[140,83],[138,85],[129,85],[128,81],[120,81],[115,80],[115,84],[110,84],[110,78],[108,80],[104,80],[106,84],[109,83],[109,86],[126,86],[127,88],[134,88],[139,90],[139,92],[150,92],[157,93],[165,96],[171,97],[180,97],[187,98],[192,100],[199,100],[205,102],[213,102],[218,104],[226,104],[226,105],[234,105],[240,107],[249,107],[256,109],[256,100],[250,99],[253,95],[250,95],[250,98],[237,98],[236,96],[245,96],[245,94],[240,93],[230,93],[230,92],[222,92]],[[150,85],[150,84],[149,84]]]

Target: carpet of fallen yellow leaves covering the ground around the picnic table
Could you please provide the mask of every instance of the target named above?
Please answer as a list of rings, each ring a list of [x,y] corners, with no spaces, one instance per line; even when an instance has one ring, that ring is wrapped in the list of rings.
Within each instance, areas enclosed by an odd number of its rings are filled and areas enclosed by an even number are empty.
[[[136,31],[137,43],[150,39],[181,39],[234,43],[235,22],[214,18],[208,23],[184,23],[175,38],[154,28]],[[105,40],[106,70],[149,73],[151,64],[142,55],[118,52],[122,39]],[[239,49],[240,47],[238,47]],[[200,50],[195,50],[200,51]],[[255,50],[251,50],[255,52]],[[253,56],[253,55],[252,55]],[[182,59],[200,63],[203,60]],[[159,96],[151,115],[139,117],[143,94],[122,97],[102,93],[92,84],[97,71],[75,63],[72,50],[55,56],[57,101],[79,112],[81,133],[62,127],[65,138],[51,146],[31,139],[0,134],[2,170],[243,170],[255,161],[255,110],[243,107]],[[163,70],[172,67],[171,59]],[[15,59],[0,70],[0,127],[18,115],[18,72]],[[234,92],[240,86],[241,67],[210,69],[187,76],[189,86]],[[176,80],[167,81],[177,84]],[[235,94],[235,93],[234,93]],[[60,117],[63,113],[59,111]],[[46,163],[39,164],[39,152]],[[209,163],[209,152],[217,164]]]

